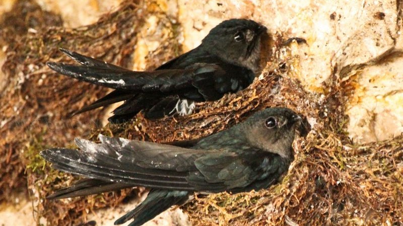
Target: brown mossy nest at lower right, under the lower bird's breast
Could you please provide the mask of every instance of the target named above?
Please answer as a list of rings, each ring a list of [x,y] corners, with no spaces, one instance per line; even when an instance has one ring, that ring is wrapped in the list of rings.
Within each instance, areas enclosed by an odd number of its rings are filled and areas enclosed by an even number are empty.
[[[198,198],[184,207],[193,225],[402,225],[403,137],[352,147],[322,131],[295,144],[280,184]]]

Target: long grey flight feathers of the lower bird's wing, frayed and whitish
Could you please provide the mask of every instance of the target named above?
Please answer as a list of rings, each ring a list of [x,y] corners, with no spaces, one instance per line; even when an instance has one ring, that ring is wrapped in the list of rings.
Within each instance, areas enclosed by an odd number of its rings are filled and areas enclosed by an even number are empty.
[[[77,139],[81,151],[63,148],[41,152],[53,167],[93,179],[160,189],[193,190],[187,171],[204,151],[151,142],[100,136],[101,144]]]

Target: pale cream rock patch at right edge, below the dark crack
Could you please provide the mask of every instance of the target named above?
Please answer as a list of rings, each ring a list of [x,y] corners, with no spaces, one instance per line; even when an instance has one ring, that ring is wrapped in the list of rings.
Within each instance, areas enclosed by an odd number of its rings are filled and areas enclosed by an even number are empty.
[[[390,139],[403,133],[403,54],[358,72],[350,98],[348,131],[357,143]]]

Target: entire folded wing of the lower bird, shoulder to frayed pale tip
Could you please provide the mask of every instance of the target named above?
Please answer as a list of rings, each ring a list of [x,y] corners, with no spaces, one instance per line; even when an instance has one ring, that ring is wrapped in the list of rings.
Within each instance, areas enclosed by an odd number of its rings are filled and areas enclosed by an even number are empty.
[[[193,150],[151,142],[100,136],[101,144],[77,139],[81,151],[48,149],[41,155],[53,167],[90,178],[157,189],[224,191],[259,178],[264,158],[251,150]],[[256,154],[256,155],[254,155]]]

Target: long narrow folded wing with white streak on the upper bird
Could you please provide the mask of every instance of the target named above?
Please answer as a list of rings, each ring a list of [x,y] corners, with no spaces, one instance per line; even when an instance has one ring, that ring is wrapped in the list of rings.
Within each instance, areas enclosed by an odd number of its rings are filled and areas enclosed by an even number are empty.
[[[89,60],[92,58],[86,59]],[[220,66],[215,64],[205,64],[187,69],[164,69],[155,71],[129,71],[126,69],[116,69],[114,67],[101,67],[99,63],[73,65],[48,62],[47,65],[60,74],[82,81],[109,88],[138,92],[170,92],[191,87],[193,79],[197,76],[224,73]]]

